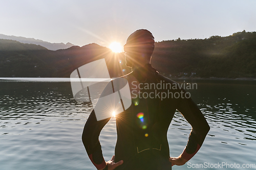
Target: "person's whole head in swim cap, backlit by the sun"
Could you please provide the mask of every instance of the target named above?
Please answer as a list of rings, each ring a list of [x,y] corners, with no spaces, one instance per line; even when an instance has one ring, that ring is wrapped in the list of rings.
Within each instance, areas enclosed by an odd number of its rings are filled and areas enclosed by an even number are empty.
[[[154,48],[155,40],[150,31],[135,31],[127,38],[124,45],[126,66],[144,66],[150,63]]]

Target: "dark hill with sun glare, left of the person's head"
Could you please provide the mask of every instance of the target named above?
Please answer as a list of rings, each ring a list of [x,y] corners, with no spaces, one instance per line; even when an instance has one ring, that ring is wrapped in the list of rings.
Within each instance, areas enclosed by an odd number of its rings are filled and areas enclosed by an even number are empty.
[[[0,77],[70,77],[74,69],[102,58],[111,77],[131,72],[124,54],[95,43],[50,51],[40,45],[0,39]]]

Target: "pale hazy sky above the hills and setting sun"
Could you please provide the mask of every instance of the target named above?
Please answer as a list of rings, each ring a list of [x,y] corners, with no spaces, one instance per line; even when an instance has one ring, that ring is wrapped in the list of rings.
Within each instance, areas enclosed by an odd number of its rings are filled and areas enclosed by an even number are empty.
[[[138,29],[156,41],[256,31],[256,1],[0,0],[0,34],[71,42],[125,44]]]

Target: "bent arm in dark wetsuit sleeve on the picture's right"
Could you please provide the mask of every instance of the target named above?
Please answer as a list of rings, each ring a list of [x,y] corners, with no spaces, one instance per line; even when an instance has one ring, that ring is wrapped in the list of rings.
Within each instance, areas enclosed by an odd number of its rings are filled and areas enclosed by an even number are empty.
[[[185,164],[201,148],[203,141],[210,130],[204,115],[191,98],[181,99],[177,110],[185,117],[187,122],[192,126],[187,145],[183,153],[177,158],[170,158],[170,162],[176,165]]]

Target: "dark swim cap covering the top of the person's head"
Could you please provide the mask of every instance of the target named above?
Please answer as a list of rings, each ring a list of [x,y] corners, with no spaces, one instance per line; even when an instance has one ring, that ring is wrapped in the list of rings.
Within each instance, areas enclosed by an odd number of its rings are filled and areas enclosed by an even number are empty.
[[[124,45],[125,52],[143,52],[152,55],[155,48],[155,38],[148,30],[137,30],[132,33]]]

